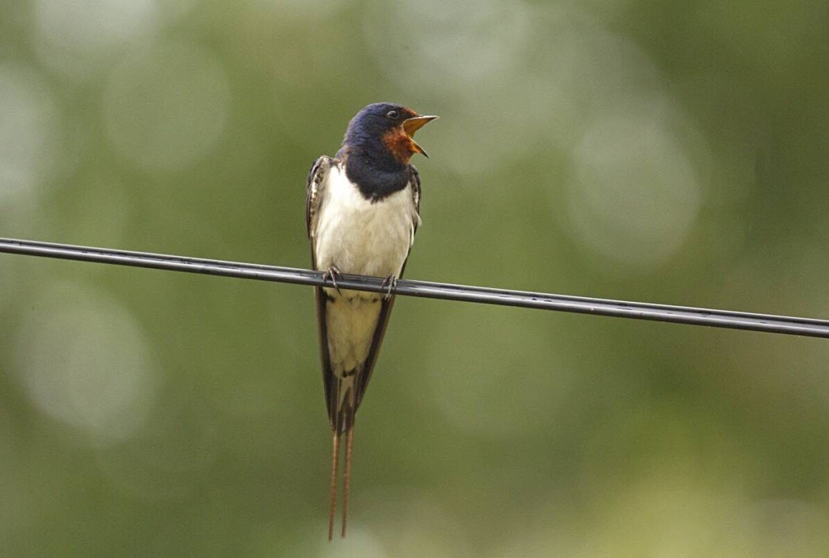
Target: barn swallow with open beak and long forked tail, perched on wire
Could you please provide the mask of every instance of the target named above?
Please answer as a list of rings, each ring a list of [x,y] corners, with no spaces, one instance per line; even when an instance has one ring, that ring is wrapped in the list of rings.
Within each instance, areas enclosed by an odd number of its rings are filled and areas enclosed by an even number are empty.
[[[308,172],[305,217],[313,269],[322,384],[332,430],[328,541],[337,511],[337,476],[346,440],[342,531],[346,536],[354,417],[366,393],[391,308],[397,279],[420,224],[420,177],[410,163],[429,157],[414,133],[437,119],[395,103],[374,103],[349,122],[333,158],[323,155]],[[340,289],[340,274],[384,279],[382,293]],[[328,286],[330,284],[330,286]]]

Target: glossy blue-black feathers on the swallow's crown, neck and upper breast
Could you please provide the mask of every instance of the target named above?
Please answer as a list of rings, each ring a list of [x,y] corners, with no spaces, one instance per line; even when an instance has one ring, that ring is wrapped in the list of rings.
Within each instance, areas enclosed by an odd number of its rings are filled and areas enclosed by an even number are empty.
[[[416,172],[409,163],[395,157],[384,142],[386,133],[412,116],[414,113],[401,104],[375,103],[362,109],[348,124],[337,158],[345,161],[346,176],[366,199],[379,201],[399,192]]]

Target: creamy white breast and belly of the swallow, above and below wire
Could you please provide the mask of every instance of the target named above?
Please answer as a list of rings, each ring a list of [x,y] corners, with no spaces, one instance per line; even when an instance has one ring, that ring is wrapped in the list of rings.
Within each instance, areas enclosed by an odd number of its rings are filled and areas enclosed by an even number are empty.
[[[332,167],[322,196],[312,239],[317,269],[335,266],[344,274],[399,277],[419,218],[410,188],[371,203],[344,171]],[[328,354],[332,371],[342,377],[366,361],[382,295],[326,292]]]

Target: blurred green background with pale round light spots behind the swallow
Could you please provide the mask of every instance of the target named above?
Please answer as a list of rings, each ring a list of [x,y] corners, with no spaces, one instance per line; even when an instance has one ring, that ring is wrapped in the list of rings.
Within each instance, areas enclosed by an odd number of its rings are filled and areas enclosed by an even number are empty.
[[[829,317],[827,2],[0,8],[2,236],[306,267],[391,100],[412,279]],[[829,553],[829,342],[394,314],[328,545],[310,289],[0,255],[0,554]]]

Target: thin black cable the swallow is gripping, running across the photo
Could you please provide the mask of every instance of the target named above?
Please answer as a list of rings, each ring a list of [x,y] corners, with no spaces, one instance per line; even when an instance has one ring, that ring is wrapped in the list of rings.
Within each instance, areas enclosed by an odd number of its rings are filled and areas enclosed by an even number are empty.
[[[206,260],[177,255],[151,254],[108,248],[90,248],[36,240],[0,238],[0,252],[9,254],[36,255],[64,260],[91,261],[102,264],[129,265],[152,269],[167,269],[187,273],[224,275],[241,279],[257,279],[278,283],[318,285],[325,283],[322,272],[311,269],[293,269],[275,265],[245,264],[240,262]],[[346,275],[337,278],[341,289],[383,292],[382,279]],[[491,289],[468,285],[431,283],[400,279],[396,294],[407,296],[460,300],[473,303],[500,304],[521,308],[541,308],[616,316],[657,322],[688,323],[714,328],[747,329],[758,332],[786,333],[809,337],[829,337],[829,321],[814,318],[793,318],[772,314],[731,312],[708,308],[671,306],[667,304],[627,302],[607,298],[575,297],[563,294],[531,293],[510,289]]]

